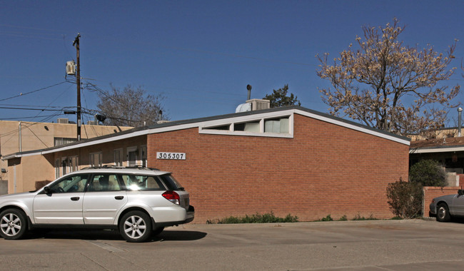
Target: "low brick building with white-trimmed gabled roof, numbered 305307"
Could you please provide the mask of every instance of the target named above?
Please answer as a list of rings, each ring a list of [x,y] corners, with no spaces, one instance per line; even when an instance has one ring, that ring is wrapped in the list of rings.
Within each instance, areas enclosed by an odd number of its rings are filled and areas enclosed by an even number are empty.
[[[304,221],[392,217],[385,189],[408,179],[408,150],[408,138],[291,106],[161,123],[4,159],[21,190],[89,165],[148,165],[173,172],[191,193],[196,223],[271,211]],[[63,168],[70,159],[77,166]]]

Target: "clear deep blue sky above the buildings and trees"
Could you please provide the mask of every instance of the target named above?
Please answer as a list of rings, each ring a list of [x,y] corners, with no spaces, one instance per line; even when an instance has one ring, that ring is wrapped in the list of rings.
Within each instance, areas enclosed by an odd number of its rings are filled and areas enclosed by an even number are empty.
[[[84,82],[161,93],[173,121],[233,113],[246,100],[247,84],[252,98],[288,84],[301,106],[327,113],[318,88],[328,82],[316,75],[316,54],[335,57],[362,35],[361,26],[384,26],[393,17],[406,26],[405,44],[444,52],[459,39],[453,66],[464,57],[464,1],[0,0],[0,6],[2,120],[75,121],[55,111],[4,107],[76,106],[76,86],[61,82],[66,61],[76,59],[77,33]],[[462,73],[448,83],[463,84]],[[84,108],[96,109],[97,100],[82,91]]]

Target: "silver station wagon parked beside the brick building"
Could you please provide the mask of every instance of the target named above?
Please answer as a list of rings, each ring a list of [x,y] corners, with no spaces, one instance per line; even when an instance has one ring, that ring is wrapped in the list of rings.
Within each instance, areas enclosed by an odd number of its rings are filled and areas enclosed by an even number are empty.
[[[15,240],[36,228],[102,228],[143,242],[164,227],[191,222],[194,214],[188,192],[171,173],[84,168],[39,190],[0,196],[0,235]]]

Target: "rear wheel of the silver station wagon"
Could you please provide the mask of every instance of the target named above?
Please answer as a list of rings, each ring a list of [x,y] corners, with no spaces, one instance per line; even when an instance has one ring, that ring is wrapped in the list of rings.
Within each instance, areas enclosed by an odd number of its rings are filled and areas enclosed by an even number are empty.
[[[123,215],[119,232],[127,242],[144,242],[151,237],[151,219],[141,211],[131,211]]]

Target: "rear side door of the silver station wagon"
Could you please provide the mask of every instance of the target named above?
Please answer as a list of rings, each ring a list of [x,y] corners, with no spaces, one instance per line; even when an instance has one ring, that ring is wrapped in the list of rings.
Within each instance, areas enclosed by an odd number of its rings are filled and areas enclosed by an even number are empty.
[[[94,175],[84,195],[84,224],[111,225],[126,203],[126,190],[116,174]]]

